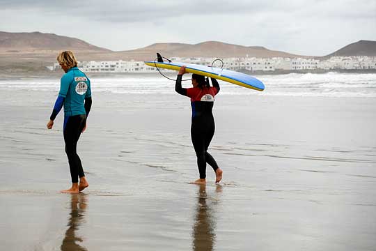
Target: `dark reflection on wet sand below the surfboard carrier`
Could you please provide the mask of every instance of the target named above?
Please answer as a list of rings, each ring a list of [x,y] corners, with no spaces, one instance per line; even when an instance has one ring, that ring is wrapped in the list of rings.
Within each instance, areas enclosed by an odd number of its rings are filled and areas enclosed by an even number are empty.
[[[214,250],[216,220],[212,204],[207,204],[206,185],[198,185],[198,203],[193,227],[193,250]],[[216,192],[221,192],[221,185],[217,185]]]

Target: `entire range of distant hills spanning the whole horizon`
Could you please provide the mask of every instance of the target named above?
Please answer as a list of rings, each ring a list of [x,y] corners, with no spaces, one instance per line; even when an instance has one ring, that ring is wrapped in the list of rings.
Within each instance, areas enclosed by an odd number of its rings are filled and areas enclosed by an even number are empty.
[[[58,36],[52,33],[10,33],[0,31],[0,70],[4,67],[30,68],[33,63],[38,62],[38,67],[54,63],[56,55],[63,50],[72,50],[77,55],[79,61],[117,61],[117,60],[154,60],[156,52],[166,56],[180,57],[303,57],[302,56],[268,50],[260,46],[243,46],[221,43],[217,41],[207,41],[190,45],[187,43],[155,43],[147,47],[136,50],[113,52],[95,45],[86,43],[84,40]],[[376,41],[360,40],[352,43],[328,56],[376,56]],[[33,65],[36,67],[36,65]]]

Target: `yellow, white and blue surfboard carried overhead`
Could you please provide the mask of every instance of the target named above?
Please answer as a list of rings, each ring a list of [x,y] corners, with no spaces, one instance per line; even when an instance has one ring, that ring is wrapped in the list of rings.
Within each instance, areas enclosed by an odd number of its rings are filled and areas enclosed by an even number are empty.
[[[160,61],[144,61],[148,66],[163,68],[169,70],[180,70],[181,66],[187,66],[185,71],[187,73],[196,73],[206,77],[223,80],[231,84],[237,84],[249,89],[257,91],[264,91],[265,86],[263,82],[245,73],[238,73],[233,70],[226,70],[222,68],[215,68],[211,66],[201,66],[195,63],[181,63],[181,62],[160,62]]]

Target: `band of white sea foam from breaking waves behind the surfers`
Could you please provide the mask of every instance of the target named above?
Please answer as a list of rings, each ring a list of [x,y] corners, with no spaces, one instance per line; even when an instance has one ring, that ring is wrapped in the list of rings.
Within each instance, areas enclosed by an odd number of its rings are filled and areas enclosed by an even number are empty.
[[[256,76],[265,84],[265,91],[220,82],[222,95],[376,97],[376,74],[356,73],[291,73]],[[187,75],[186,78],[189,78]],[[93,92],[174,93],[175,83],[159,75],[91,77]],[[190,81],[183,82],[190,87]],[[26,91],[58,91],[59,79],[1,80],[0,89]]]

